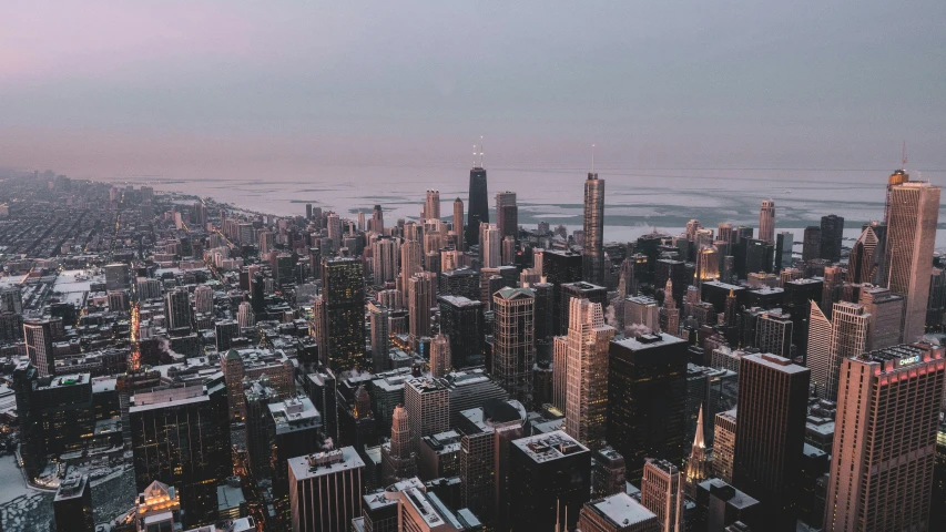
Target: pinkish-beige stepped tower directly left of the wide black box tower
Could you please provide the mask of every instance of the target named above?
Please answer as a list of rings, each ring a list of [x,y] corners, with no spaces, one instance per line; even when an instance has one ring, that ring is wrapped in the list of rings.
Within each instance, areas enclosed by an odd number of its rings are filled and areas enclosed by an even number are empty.
[[[608,345],[601,305],[571,299],[567,345],[564,431],[591,450],[604,446],[608,415]],[[558,345],[558,339],[556,340]]]

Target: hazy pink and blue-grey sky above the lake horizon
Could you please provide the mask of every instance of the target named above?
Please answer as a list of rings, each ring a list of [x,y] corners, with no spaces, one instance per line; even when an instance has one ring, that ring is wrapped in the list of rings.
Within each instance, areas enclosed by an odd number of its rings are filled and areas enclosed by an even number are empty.
[[[946,2],[0,3],[0,166],[946,168]]]

